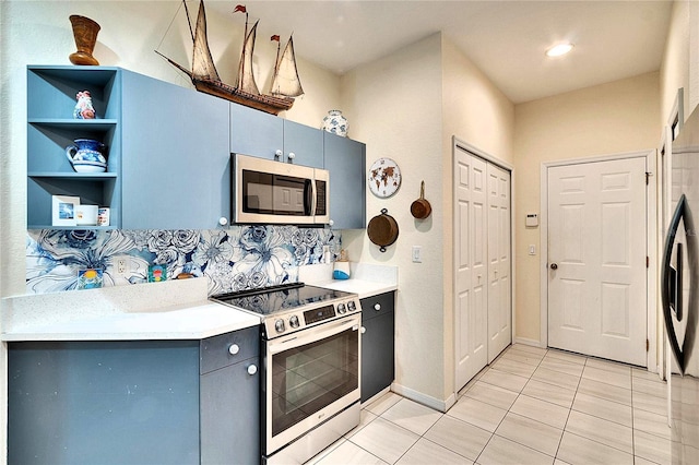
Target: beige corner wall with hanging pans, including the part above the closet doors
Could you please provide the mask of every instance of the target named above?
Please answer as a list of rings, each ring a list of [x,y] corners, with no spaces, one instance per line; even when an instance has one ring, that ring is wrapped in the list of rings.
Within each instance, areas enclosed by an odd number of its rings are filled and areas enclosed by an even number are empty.
[[[438,405],[454,389],[451,138],[511,163],[513,106],[440,34],[348,73],[342,94],[350,135],[367,143],[367,165],[388,156],[403,175],[394,196],[367,196],[367,219],[383,207],[395,217],[396,243],[380,253],[364,230],[344,231],[343,241],[352,260],[399,266],[396,383]],[[422,180],[433,214],[417,220],[410,205]],[[423,263],[411,261],[413,246],[423,248]]]

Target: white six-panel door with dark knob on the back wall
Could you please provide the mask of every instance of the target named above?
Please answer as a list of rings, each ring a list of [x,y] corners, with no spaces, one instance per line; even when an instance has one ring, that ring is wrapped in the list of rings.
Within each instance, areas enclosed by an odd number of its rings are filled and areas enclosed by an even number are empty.
[[[645,366],[645,159],[548,168],[548,345]]]

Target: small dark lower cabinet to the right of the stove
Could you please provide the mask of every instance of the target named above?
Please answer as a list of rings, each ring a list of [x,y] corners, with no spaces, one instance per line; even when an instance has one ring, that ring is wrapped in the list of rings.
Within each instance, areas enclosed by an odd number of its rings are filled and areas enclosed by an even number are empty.
[[[395,294],[367,297],[362,302],[362,402],[389,388],[395,379]]]

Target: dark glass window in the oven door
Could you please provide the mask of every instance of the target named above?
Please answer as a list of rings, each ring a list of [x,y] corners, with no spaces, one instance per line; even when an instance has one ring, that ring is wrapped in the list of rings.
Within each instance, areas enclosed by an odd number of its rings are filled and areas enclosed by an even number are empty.
[[[358,337],[350,329],[272,356],[272,436],[358,389]]]

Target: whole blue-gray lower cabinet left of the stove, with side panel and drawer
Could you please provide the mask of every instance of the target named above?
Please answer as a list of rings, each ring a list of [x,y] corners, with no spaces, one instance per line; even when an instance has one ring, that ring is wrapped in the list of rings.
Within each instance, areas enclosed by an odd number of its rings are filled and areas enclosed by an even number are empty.
[[[258,463],[258,334],[205,373],[214,338],[9,343],[8,463]]]

